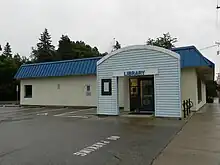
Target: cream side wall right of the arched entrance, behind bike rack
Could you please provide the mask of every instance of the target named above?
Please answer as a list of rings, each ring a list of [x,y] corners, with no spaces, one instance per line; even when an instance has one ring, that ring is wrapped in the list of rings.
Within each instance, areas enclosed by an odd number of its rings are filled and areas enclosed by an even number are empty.
[[[182,100],[191,99],[193,111],[199,110],[206,103],[206,85],[202,81],[202,101],[198,104],[197,73],[195,68],[181,70],[181,96]]]

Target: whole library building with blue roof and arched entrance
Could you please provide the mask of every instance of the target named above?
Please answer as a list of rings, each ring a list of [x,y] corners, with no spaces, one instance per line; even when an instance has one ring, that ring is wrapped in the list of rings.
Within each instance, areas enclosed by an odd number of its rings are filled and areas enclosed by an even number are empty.
[[[92,106],[98,114],[139,110],[158,117],[182,117],[182,101],[197,111],[206,103],[206,80],[214,64],[194,46],[172,51],[129,46],[105,57],[22,65],[20,104]]]

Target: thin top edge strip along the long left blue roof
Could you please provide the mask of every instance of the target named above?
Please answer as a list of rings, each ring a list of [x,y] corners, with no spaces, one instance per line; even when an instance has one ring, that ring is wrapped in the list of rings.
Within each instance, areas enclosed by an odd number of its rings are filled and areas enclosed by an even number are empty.
[[[72,60],[61,60],[61,61],[50,61],[50,62],[23,64],[22,66],[57,64],[57,63],[66,63],[66,62],[75,62],[75,61],[86,61],[86,60],[93,60],[93,59],[95,60],[95,59],[101,59],[101,58],[102,58],[102,56],[97,56],[97,57],[90,57],[90,58],[78,58],[78,59],[72,59]]]

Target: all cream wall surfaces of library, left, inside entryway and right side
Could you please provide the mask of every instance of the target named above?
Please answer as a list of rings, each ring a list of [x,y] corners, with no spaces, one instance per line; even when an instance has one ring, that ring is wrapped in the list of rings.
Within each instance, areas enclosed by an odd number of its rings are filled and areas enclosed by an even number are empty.
[[[129,110],[130,104],[128,83],[127,77],[119,78],[119,106],[126,105],[126,110]],[[57,89],[58,84],[60,89]],[[32,85],[32,98],[24,98],[24,85]],[[91,96],[86,96],[85,85],[91,85]],[[21,105],[97,106],[96,87],[95,75],[21,80]],[[198,104],[194,68],[181,70],[181,93],[182,100],[190,98],[193,101],[194,111],[206,103],[206,87],[202,82],[202,102]]]

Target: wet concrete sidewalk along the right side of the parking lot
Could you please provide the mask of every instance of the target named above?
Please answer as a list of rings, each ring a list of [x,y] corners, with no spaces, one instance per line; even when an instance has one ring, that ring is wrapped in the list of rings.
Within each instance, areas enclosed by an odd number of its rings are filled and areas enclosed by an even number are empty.
[[[220,104],[197,112],[153,165],[220,165]]]

